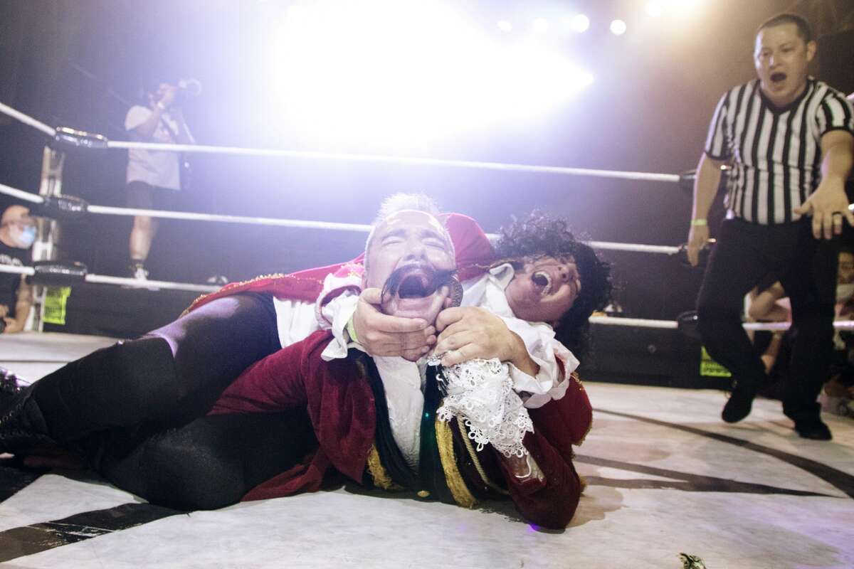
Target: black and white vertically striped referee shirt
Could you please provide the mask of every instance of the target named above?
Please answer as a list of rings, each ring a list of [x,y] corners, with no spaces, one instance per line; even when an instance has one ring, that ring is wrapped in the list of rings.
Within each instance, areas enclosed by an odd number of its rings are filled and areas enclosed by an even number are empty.
[[[733,162],[728,209],[763,225],[798,219],[793,208],[820,182],[821,138],[834,130],[854,134],[854,108],[815,78],[782,108],[763,95],[758,79],[729,90],[717,103],[705,141],[709,158]]]

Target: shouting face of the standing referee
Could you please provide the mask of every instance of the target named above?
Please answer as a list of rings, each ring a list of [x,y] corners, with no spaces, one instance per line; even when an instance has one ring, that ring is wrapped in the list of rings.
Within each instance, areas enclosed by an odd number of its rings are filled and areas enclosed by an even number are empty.
[[[816,43],[804,42],[794,24],[760,30],[753,62],[765,96],[777,107],[797,99],[806,85],[807,66],[815,55]]]

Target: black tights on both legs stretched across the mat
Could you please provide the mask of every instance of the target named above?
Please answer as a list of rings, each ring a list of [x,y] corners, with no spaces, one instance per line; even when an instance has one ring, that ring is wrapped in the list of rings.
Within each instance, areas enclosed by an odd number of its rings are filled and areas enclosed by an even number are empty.
[[[243,369],[278,349],[272,299],[240,294],[68,363],[32,398],[48,434],[120,488],[172,508],[219,508],[313,445],[301,409],[205,416]]]

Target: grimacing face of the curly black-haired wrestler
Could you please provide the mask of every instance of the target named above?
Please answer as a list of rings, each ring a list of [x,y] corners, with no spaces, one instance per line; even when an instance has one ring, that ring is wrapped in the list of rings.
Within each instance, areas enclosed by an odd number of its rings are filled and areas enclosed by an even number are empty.
[[[504,293],[517,318],[553,324],[572,308],[581,291],[581,276],[570,256],[525,259]]]

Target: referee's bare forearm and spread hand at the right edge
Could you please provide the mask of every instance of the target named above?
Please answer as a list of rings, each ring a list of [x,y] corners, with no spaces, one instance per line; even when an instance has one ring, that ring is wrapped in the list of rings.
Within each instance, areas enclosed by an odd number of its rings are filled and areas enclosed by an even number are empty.
[[[812,217],[812,235],[816,239],[830,239],[842,233],[843,218],[854,226],[854,213],[848,210],[845,195],[845,178],[851,172],[852,163],[854,136],[847,131],[825,133],[822,136],[822,183],[802,206],[794,209],[795,213]]]

